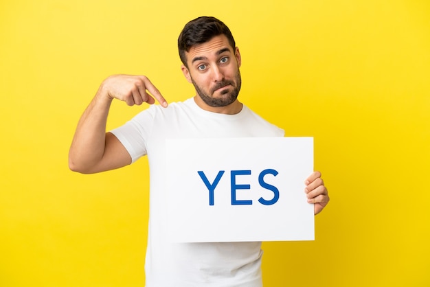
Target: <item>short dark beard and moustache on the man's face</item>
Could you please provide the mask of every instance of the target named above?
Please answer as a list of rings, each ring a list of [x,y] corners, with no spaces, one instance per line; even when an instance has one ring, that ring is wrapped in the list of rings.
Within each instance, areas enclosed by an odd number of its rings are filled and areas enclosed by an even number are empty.
[[[217,82],[214,87],[210,90],[210,93],[207,93],[203,90],[203,88],[199,87],[199,85],[194,82],[194,80],[191,78],[192,84],[194,85],[194,89],[196,89],[196,93],[199,94],[203,102],[207,104],[208,106],[212,107],[221,107],[221,106],[228,106],[229,104],[232,104],[236,99],[238,98],[240,86],[242,85],[242,78],[240,78],[240,71],[238,70],[238,73],[236,73],[236,76],[234,77],[236,80],[236,84],[234,81],[231,80],[222,80],[220,82]],[[228,84],[233,87],[233,91],[224,90],[220,91],[220,97],[214,97],[214,92],[222,87],[227,86]]]

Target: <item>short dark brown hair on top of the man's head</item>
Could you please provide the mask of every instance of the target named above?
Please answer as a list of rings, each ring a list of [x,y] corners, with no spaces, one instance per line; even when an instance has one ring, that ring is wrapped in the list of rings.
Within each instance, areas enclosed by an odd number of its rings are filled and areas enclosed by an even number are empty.
[[[215,17],[201,16],[188,22],[178,38],[179,58],[183,65],[188,67],[185,52],[190,51],[192,46],[203,44],[218,35],[225,35],[231,47],[236,48],[229,27]]]

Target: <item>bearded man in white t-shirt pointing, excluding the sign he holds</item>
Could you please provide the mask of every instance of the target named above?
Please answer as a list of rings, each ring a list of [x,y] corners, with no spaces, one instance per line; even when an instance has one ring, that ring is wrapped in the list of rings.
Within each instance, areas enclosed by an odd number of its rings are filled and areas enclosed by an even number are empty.
[[[128,165],[148,154],[150,222],[146,251],[146,286],[262,286],[261,242],[171,243],[161,210],[166,170],[165,140],[189,137],[283,137],[237,99],[240,52],[229,28],[213,17],[190,21],[179,35],[181,69],[196,95],[168,105],[145,76],[111,76],[104,80],[84,111],[69,152],[69,167],[82,173]],[[150,93],[148,93],[148,92]],[[120,128],[106,133],[113,99],[129,106],[154,104]],[[209,151],[210,152],[210,151]],[[306,183],[308,203],[318,214],[328,203],[319,172]]]

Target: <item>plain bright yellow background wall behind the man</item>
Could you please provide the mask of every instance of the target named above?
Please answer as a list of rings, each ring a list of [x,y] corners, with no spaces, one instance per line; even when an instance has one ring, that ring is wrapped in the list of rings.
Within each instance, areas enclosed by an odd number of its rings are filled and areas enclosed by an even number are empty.
[[[315,137],[332,198],[315,242],[263,244],[265,286],[430,286],[427,0],[1,1],[0,286],[144,286],[146,159],[82,175],[67,153],[106,76],[193,95],[176,41],[201,15],[236,38],[240,99]]]

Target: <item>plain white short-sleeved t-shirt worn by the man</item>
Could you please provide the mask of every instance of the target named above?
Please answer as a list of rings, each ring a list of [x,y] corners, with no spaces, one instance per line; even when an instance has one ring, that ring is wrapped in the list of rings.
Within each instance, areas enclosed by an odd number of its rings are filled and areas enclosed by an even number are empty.
[[[205,111],[193,98],[152,105],[112,133],[133,162],[148,155],[150,218],[146,249],[146,286],[262,286],[261,242],[172,243],[164,230],[166,139],[220,137],[282,137],[247,106],[236,115]],[[208,150],[210,152],[210,150]]]

